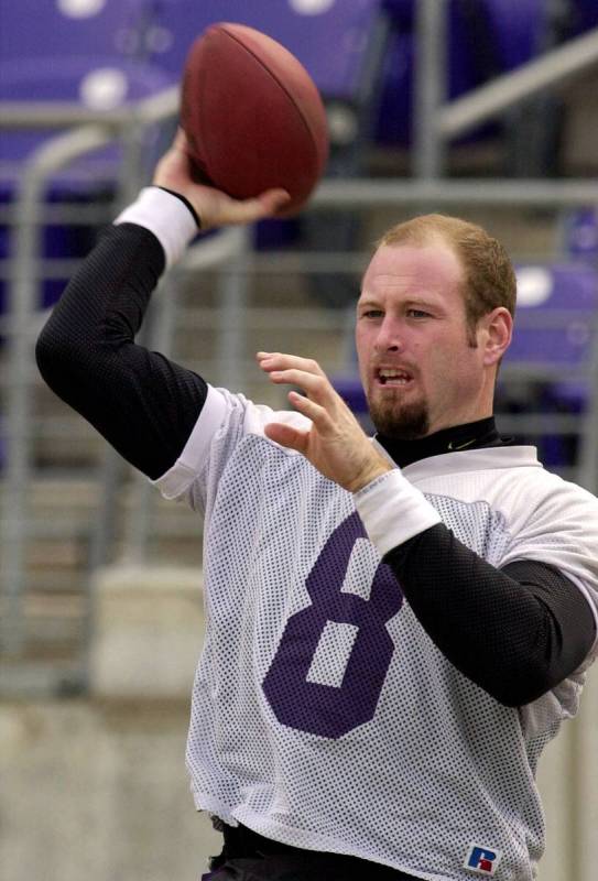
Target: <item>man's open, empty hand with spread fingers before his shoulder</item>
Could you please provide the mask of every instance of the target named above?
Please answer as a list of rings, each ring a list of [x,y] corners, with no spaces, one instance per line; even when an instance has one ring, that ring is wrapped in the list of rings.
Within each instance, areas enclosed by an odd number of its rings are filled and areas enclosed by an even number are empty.
[[[297,385],[305,396],[289,392],[289,400],[312,421],[309,431],[270,423],[265,436],[302,453],[324,477],[349,492],[357,492],[392,465],[378,453],[356,417],[334,390],[317,361],[296,355],[260,351],[261,369],[276,384]]]

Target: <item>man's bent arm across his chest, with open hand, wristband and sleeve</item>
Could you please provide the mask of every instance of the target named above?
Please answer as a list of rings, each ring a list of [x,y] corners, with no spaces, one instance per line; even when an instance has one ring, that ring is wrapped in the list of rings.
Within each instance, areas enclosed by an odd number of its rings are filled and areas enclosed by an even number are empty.
[[[258,362],[272,382],[303,389],[289,400],[312,422],[309,431],[270,424],[267,436],[355,494],[370,540],[457,670],[500,703],[522,706],[583,663],[596,623],[573,581],[530,559],[497,569],[459,542],[376,449],[317,362],[281,352],[259,352]]]

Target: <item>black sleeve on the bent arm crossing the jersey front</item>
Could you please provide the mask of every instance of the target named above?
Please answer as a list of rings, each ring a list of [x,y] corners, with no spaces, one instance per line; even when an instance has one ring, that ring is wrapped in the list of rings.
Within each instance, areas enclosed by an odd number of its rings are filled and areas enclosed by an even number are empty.
[[[580,590],[543,563],[499,570],[443,523],[382,550],[437,648],[502,704],[521,706],[545,694],[594,642],[594,617]]]

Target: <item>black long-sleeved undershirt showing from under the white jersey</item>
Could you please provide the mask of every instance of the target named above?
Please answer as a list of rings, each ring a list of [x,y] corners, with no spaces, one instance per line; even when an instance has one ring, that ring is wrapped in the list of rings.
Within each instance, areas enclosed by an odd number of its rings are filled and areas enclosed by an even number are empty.
[[[134,342],[163,270],[151,232],[132,224],[111,228],[70,281],[36,347],[47,384],[153,479],[176,461],[207,394],[200,377]],[[455,429],[459,444],[464,427]],[[492,426],[482,427],[471,448],[497,443]],[[405,452],[411,461],[431,455],[434,440],[424,442]],[[594,641],[581,592],[543,563],[496,569],[442,524],[385,562],[446,657],[505,705],[554,687]]]

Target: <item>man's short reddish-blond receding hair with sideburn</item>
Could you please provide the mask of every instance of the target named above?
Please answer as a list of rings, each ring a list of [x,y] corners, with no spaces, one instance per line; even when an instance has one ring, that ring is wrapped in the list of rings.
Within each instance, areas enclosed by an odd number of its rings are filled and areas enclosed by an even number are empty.
[[[453,249],[464,271],[463,296],[468,334],[498,306],[514,315],[517,279],[504,246],[482,227],[443,214],[427,214],[391,227],[377,243],[426,246],[441,240]]]

